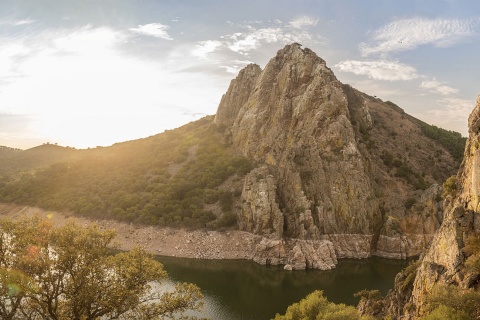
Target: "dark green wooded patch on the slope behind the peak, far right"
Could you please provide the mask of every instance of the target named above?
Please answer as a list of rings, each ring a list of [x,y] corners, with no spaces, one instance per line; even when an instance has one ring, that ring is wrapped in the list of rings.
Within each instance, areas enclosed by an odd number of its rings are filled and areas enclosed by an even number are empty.
[[[424,135],[447,149],[456,160],[460,161],[463,158],[467,138],[462,137],[460,133],[432,126],[425,122],[420,122],[420,129]]]

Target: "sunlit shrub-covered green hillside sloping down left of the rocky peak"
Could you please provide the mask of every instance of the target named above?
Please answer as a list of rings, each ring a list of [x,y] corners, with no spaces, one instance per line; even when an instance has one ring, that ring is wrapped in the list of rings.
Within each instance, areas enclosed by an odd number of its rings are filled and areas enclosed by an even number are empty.
[[[243,177],[251,164],[225,145],[210,118],[82,152],[75,161],[0,178],[1,201],[162,226],[236,224],[239,193],[222,184]]]

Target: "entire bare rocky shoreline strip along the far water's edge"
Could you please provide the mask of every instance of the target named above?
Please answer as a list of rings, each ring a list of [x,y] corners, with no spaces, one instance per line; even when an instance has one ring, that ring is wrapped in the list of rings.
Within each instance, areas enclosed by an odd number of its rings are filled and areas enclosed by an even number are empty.
[[[246,231],[220,232],[138,226],[114,220],[86,219],[35,207],[0,204],[1,218],[33,216],[47,219],[54,226],[62,226],[71,220],[80,226],[96,224],[102,229],[116,231],[114,243],[117,249],[141,247],[151,254],[179,258],[245,259],[263,265],[284,265],[286,270],[329,270],[335,268],[338,259],[364,259],[372,255],[372,236],[368,235],[325,235],[320,240],[270,239]],[[406,245],[416,250],[408,252],[404,248],[399,254],[397,245],[410,241],[384,237],[380,241],[385,244],[380,247],[385,251],[375,252],[373,255],[393,259],[418,255],[420,247],[428,241],[425,238],[419,240],[416,245]]]

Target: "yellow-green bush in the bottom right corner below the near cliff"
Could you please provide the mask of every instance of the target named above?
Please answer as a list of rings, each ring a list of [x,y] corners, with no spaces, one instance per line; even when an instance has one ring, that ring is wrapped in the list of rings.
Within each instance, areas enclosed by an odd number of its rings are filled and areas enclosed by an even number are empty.
[[[479,319],[480,292],[457,286],[436,285],[427,298],[423,319]]]

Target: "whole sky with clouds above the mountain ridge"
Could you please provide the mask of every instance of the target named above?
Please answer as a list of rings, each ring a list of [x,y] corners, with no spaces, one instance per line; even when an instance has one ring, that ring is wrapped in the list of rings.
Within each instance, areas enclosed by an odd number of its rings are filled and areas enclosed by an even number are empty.
[[[293,42],[467,135],[478,0],[0,0],[0,146],[108,146],[213,115],[239,70]]]

